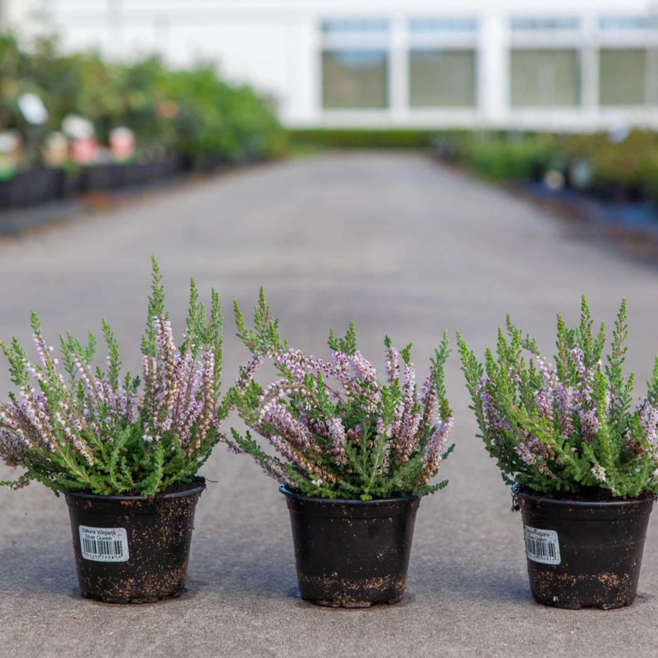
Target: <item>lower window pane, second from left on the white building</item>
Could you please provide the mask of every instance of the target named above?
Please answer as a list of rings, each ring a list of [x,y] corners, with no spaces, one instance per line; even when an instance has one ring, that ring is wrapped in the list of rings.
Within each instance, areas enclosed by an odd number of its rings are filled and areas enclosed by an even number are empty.
[[[473,107],[474,51],[413,49],[409,53],[409,105]]]

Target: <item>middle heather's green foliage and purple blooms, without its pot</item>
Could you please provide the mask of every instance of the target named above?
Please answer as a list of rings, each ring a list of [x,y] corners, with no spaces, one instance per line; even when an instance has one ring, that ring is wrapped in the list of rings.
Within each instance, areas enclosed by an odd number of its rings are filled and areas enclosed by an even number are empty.
[[[357,349],[353,323],[344,337],[330,332],[331,363],[288,349],[262,290],[255,328],[245,326],[237,304],[235,314],[238,336],[253,358],[241,368],[231,401],[278,456],[270,455],[251,432],[242,435],[232,428],[229,443],[236,451],[249,453],[291,489],[315,497],[420,496],[447,484],[430,483],[452,450],[447,446],[452,420],[443,378],[450,351],[446,334],[418,393],[411,344],[403,350],[401,382],[397,352],[386,337],[389,382],[382,384]],[[280,378],[263,388],[253,376],[266,357],[273,359]]]

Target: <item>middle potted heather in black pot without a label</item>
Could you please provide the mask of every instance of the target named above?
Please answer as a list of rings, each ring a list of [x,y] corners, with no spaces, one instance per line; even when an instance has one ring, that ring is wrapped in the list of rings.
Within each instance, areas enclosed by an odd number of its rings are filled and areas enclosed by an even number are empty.
[[[332,360],[289,349],[278,336],[261,290],[255,330],[236,305],[238,336],[252,359],[230,397],[266,452],[234,428],[235,451],[249,453],[281,483],[292,526],[299,590],[330,607],[369,607],[403,597],[420,498],[432,484],[452,425],[443,364],[447,335],[430,374],[417,390],[411,344],[398,353],[384,340],[388,377],[357,349],[353,324],[345,338],[330,333]],[[278,379],[265,388],[253,379],[272,359]]]

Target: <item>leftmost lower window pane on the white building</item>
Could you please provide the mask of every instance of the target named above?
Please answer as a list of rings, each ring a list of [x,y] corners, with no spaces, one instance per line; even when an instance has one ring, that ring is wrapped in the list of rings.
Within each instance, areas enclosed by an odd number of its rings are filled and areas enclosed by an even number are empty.
[[[322,53],[322,107],[388,105],[388,55],[385,50]]]

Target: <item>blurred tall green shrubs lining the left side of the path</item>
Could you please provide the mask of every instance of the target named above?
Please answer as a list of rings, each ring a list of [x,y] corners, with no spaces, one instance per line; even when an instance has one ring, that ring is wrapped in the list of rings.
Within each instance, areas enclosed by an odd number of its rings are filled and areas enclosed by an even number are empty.
[[[26,95],[40,99],[45,120],[30,120]],[[210,65],[174,70],[157,57],[110,63],[98,53],[60,53],[53,39],[26,49],[0,36],[0,132],[18,136],[18,170],[49,163],[44,147],[66,133],[70,116],[93,125],[101,153],[113,130],[128,128],[139,161],[177,155],[199,166],[236,163],[278,155],[286,139],[265,99],[220,80]]]

